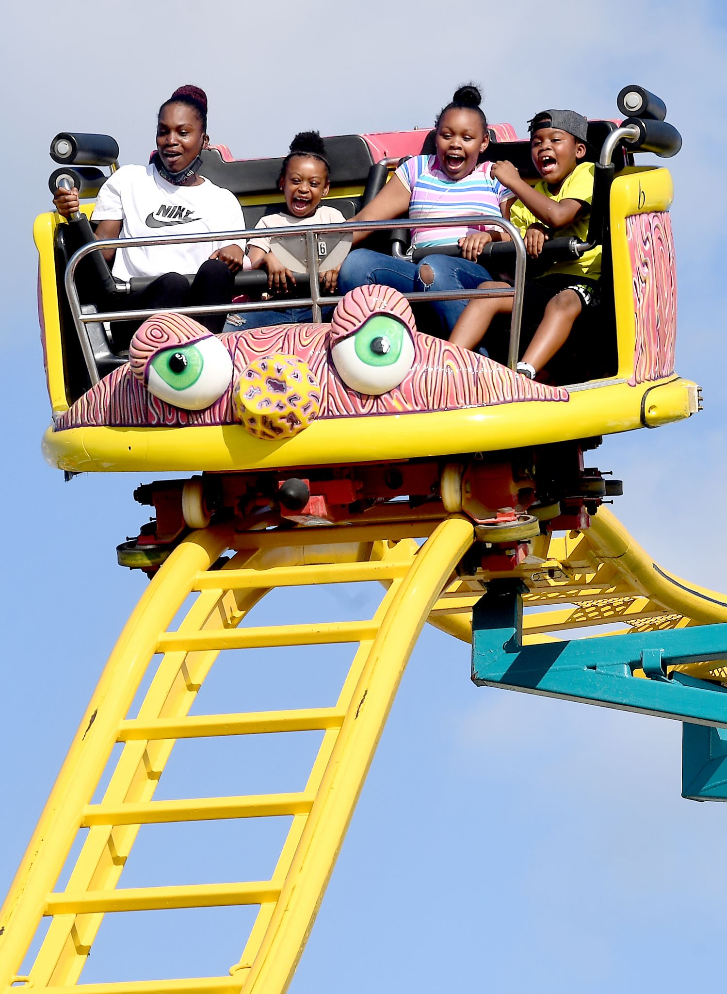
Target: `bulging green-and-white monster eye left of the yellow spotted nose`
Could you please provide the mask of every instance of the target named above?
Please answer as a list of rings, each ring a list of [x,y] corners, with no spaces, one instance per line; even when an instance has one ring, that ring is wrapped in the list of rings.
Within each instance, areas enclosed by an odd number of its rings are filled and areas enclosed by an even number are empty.
[[[203,411],[218,401],[231,379],[229,352],[211,335],[159,351],[149,364],[147,390],[175,408]]]

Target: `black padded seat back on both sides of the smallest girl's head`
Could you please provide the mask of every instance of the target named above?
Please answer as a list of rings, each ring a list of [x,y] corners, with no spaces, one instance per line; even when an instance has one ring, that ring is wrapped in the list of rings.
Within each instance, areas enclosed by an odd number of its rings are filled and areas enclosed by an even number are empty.
[[[361,135],[344,134],[326,138],[326,155],[331,164],[331,179],[336,186],[364,186],[373,159]],[[201,174],[230,190],[236,197],[279,193],[282,157],[225,162],[216,148],[209,148],[202,153],[202,163]]]

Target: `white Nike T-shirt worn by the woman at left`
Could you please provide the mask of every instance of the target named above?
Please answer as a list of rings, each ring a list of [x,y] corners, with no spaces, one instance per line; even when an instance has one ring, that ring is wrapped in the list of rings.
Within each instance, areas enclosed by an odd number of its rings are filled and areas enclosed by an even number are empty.
[[[119,238],[149,238],[179,232],[232,232],[245,227],[242,208],[229,190],[210,180],[199,186],[175,186],[162,179],[156,167],[121,166],[98,191],[91,221],[120,221]],[[243,241],[198,242],[193,245],[117,248],[113,274],[160,276],[163,272],[194,273],[212,252]]]

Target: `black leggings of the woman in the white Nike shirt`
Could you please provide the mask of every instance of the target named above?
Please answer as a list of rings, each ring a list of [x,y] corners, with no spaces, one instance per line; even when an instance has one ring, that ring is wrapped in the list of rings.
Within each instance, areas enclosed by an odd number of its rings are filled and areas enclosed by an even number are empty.
[[[179,272],[165,272],[142,290],[104,294],[98,306],[103,310],[174,310],[177,307],[228,304],[232,300],[234,276],[224,262],[209,258],[203,262],[190,286],[187,276]],[[219,334],[226,318],[221,314],[198,314],[195,320],[213,334]],[[117,348],[128,348],[131,337],[138,328],[136,321],[112,321],[111,333]]]

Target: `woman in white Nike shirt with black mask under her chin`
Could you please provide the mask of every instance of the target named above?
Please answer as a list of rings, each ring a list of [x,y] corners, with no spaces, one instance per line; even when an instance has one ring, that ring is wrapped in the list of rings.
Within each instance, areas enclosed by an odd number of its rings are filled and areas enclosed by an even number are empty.
[[[91,222],[96,239],[149,238],[172,232],[202,234],[245,227],[236,197],[200,176],[200,153],[209,144],[207,95],[197,86],[180,86],[159,109],[157,151],[148,166],[122,166],[98,191]],[[58,190],[54,204],[68,218],[78,210],[77,190]],[[233,274],[242,267],[244,242],[130,247],[104,250],[113,275],[154,276],[141,290],[113,298],[91,293],[102,308],[114,310],[174,309],[185,305],[229,303]],[[211,253],[212,252],[212,253]],[[190,286],[185,273],[196,273]],[[210,331],[219,332],[225,314],[200,315]],[[136,322],[113,322],[119,348],[128,345]]]

